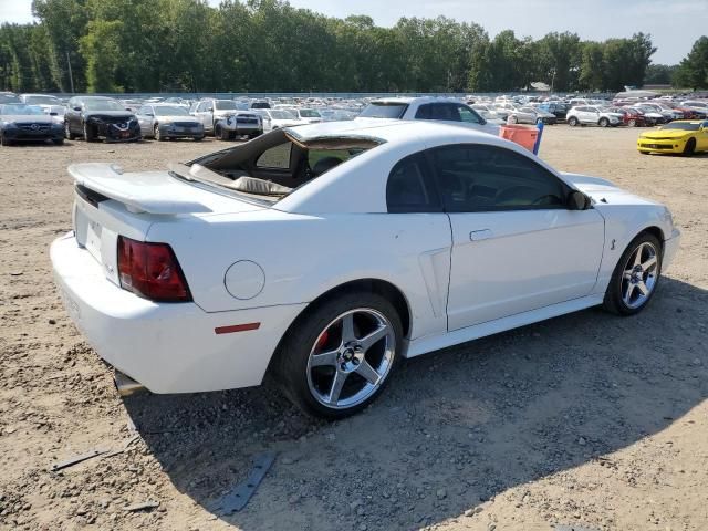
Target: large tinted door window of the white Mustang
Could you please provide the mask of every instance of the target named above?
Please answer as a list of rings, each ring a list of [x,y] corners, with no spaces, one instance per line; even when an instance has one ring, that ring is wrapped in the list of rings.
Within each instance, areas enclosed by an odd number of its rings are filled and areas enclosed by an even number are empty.
[[[458,145],[434,149],[431,155],[447,211],[565,208],[565,184],[510,149]]]

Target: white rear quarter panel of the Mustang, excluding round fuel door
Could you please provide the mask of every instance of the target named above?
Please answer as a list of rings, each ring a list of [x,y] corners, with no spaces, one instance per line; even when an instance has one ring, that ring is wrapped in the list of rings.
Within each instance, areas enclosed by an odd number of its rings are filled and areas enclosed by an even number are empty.
[[[262,210],[154,223],[149,241],[173,246],[195,302],[221,312],[313,301],[360,279],[381,279],[406,298],[416,337],[446,329],[450,229],[444,214],[300,215]],[[262,291],[249,300],[225,285],[228,268],[250,260]]]

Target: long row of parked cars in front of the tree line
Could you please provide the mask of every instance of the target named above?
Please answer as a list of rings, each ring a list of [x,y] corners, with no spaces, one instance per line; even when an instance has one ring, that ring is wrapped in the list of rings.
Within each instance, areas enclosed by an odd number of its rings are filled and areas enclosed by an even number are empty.
[[[654,126],[676,119],[704,119],[708,101],[592,98],[532,98],[500,96],[466,101],[447,97],[384,97],[355,102],[227,100],[180,97],[117,100],[74,96],[62,102],[44,94],[0,93],[0,142],[84,138],[86,142],[158,142],[176,138],[201,140],[214,135],[221,140],[254,138],[279,127],[326,121],[397,118],[434,119],[498,134],[503,124],[556,124],[570,126]],[[310,105],[308,105],[310,104]],[[329,106],[322,106],[329,105]]]

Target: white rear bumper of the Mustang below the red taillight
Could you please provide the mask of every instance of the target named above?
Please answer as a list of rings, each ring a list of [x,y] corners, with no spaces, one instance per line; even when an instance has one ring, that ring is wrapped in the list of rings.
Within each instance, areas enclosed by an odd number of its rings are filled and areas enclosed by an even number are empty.
[[[259,385],[278,342],[305,306],[207,313],[195,303],[155,303],[108,281],[72,233],[56,239],[50,256],[76,327],[103,360],[154,393]],[[260,326],[216,333],[246,323]]]

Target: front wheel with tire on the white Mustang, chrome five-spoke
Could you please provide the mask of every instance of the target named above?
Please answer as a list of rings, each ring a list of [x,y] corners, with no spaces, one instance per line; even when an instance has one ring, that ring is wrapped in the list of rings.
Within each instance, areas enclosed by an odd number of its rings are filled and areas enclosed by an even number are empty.
[[[662,243],[644,232],[620,258],[605,292],[605,309],[620,315],[641,312],[654,296],[660,274]]]

